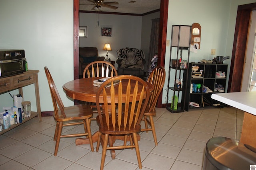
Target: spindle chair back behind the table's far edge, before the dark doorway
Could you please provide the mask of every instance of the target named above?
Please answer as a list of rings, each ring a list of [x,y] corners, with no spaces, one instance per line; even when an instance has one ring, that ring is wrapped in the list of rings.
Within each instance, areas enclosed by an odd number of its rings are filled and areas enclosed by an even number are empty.
[[[94,61],[84,68],[83,78],[117,76],[116,68],[106,61]]]

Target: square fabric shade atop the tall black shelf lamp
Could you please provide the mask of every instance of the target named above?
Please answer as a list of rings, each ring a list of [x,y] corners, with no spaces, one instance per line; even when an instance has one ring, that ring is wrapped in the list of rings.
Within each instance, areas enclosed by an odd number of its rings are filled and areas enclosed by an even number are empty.
[[[190,47],[190,25],[172,26],[172,47]]]

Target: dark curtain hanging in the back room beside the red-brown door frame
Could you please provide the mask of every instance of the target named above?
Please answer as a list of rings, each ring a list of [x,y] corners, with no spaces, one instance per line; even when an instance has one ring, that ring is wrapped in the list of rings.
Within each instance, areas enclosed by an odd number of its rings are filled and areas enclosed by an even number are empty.
[[[148,68],[150,68],[152,58],[158,54],[159,23],[160,18],[152,20],[148,54]]]

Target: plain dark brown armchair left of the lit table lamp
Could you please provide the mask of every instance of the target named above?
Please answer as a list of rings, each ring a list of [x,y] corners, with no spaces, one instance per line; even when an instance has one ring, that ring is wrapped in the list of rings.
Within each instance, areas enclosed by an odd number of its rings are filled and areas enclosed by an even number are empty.
[[[104,61],[105,57],[99,57],[96,47],[79,47],[79,77],[83,77],[84,68],[94,61]]]

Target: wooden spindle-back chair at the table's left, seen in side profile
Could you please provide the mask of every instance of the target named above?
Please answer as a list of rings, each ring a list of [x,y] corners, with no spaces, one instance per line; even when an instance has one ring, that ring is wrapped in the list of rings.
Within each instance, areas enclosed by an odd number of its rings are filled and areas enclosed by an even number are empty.
[[[58,93],[58,90],[56,88],[56,85],[50,74],[50,71],[46,66],[44,67],[44,71],[48,80],[48,84],[49,84],[50,92],[52,96],[52,104],[54,107],[53,117],[55,121],[57,121],[55,133],[54,133],[54,141],[56,141],[54,156],[57,155],[58,147],[60,144],[60,138],[62,137],[87,136],[89,138],[90,147],[93,152],[94,149],[93,149],[93,142],[92,142],[92,133],[90,128],[90,118],[92,117],[92,109],[89,106],[84,104],[64,107],[62,100],[60,98],[60,95]],[[71,126],[71,125],[81,125],[81,124],[84,125],[84,133],[62,135],[61,133],[62,127]]]

